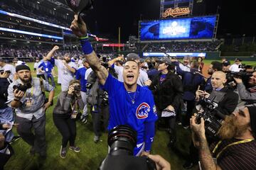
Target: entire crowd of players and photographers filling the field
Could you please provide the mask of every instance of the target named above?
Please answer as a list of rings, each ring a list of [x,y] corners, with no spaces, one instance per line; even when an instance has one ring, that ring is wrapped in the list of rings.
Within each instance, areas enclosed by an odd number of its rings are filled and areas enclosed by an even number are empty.
[[[107,61],[95,54],[85,23],[77,16],[71,29],[80,38],[85,54],[77,64],[68,54],[62,59],[54,59],[53,53],[58,50],[55,46],[43,56],[43,60],[36,58],[34,69],[37,77],[31,77],[31,69],[26,63],[14,67],[0,58],[0,168],[13,154],[10,142],[18,138],[11,132],[13,126],[17,126],[18,135],[31,145],[30,153],[46,159],[45,113],[53,106],[53,96],[58,95],[53,122],[63,137],[60,145],[63,159],[68,143],[69,149],[80,152],[80,147],[75,145],[75,121],[80,118],[87,123],[87,108],[90,108],[94,142],[100,140],[100,119],[103,116],[105,131],[117,125],[129,125],[137,132],[134,155],[146,155],[156,160],[149,155],[155,127],[169,132],[168,147],[174,148],[176,123],[181,123],[183,128],[190,125],[193,139],[189,157],[183,165],[185,169],[190,169],[198,161],[201,169],[256,169],[254,69],[240,68],[240,59],[231,66],[228,60],[212,62],[208,68],[210,78],[206,79],[201,74],[204,67],[201,57],[192,61],[186,56],[180,63],[174,57],[143,60],[130,53]],[[55,66],[58,68],[60,94],[54,94]],[[232,79],[227,81],[227,77]],[[45,91],[49,92],[48,98]],[[214,108],[223,119],[218,137],[208,136],[205,120],[201,118],[199,121],[193,115],[204,112],[201,101],[213,94],[213,101],[221,96]],[[157,159],[163,160],[161,157]],[[161,164],[157,166],[161,169]],[[164,166],[170,169],[168,163]]]

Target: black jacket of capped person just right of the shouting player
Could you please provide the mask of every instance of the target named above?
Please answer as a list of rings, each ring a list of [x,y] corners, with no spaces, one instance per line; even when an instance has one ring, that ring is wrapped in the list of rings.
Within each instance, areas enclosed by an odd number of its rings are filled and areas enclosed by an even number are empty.
[[[168,72],[166,79],[160,84],[161,73],[154,77],[149,89],[154,94],[156,108],[163,111],[167,106],[171,105],[177,111],[183,100],[182,81],[178,75]]]

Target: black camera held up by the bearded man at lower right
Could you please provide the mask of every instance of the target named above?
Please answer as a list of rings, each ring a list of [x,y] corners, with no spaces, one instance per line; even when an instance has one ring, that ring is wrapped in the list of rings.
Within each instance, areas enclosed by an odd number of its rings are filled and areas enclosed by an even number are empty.
[[[210,137],[216,137],[218,130],[222,125],[225,115],[218,111],[218,104],[223,100],[225,92],[213,91],[208,98],[202,98],[199,101],[201,107],[197,107],[196,123],[201,123],[201,118],[205,120],[206,134]]]

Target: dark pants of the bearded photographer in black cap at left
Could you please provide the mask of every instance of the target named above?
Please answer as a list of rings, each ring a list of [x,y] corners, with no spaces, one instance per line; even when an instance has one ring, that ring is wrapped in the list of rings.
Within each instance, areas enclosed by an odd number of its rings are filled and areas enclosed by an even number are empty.
[[[16,116],[16,123],[18,123],[17,132],[21,138],[31,145],[36,152],[41,155],[46,154],[46,115],[36,119],[33,116],[32,120]],[[34,134],[32,132],[32,128]]]

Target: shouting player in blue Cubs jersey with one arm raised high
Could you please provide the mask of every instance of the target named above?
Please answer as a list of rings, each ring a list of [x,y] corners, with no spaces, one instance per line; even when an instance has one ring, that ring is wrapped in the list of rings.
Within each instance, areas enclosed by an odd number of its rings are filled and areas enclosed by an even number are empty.
[[[154,125],[157,120],[156,106],[151,91],[137,85],[139,65],[133,60],[124,64],[124,82],[114,79],[102,66],[88,40],[87,29],[82,19],[75,19],[70,27],[82,44],[87,62],[97,74],[100,84],[109,94],[110,120],[108,129],[117,125],[130,125],[137,131],[137,147],[134,155],[149,155],[154,140]]]

